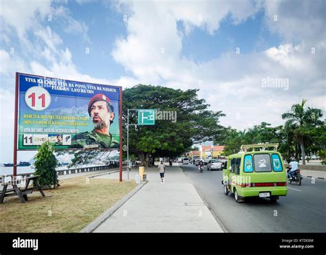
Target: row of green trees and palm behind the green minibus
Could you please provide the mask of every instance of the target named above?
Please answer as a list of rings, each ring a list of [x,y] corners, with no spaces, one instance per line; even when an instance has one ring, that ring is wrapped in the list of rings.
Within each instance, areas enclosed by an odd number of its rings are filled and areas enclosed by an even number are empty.
[[[290,160],[294,156],[297,160],[305,155],[318,155],[325,159],[326,126],[323,111],[313,107],[307,107],[307,100],[293,104],[291,109],[282,114],[285,124],[283,126],[271,126],[267,122],[261,122],[252,129],[237,131],[228,127],[223,131],[225,140],[216,140],[226,145],[224,155],[237,153],[241,144],[279,143],[279,152]],[[310,158],[308,158],[310,160]]]

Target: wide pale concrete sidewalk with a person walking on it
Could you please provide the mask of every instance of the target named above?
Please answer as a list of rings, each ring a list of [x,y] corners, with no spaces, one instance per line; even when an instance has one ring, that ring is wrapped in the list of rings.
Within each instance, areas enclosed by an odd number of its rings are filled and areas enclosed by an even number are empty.
[[[94,232],[223,232],[179,166],[166,166],[161,184],[157,167],[145,168],[148,183]],[[127,179],[127,171],[122,172]],[[138,169],[129,172],[135,180]],[[118,179],[118,173],[99,179]]]

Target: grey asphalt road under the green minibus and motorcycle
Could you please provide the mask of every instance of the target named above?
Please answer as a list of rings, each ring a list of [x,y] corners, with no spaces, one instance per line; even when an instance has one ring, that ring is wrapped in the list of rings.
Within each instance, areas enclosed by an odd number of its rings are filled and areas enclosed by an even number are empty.
[[[182,166],[186,176],[213,211],[227,232],[326,232],[326,181],[303,178],[301,186],[288,184],[286,197],[272,203],[270,199],[252,198],[236,203],[224,195],[222,171],[199,173],[197,166]]]

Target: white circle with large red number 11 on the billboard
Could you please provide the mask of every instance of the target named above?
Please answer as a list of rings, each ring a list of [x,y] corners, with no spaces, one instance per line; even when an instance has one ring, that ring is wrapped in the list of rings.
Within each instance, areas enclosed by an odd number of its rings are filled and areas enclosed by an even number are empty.
[[[25,93],[25,103],[34,111],[43,111],[51,102],[50,93],[43,87],[30,87]]]

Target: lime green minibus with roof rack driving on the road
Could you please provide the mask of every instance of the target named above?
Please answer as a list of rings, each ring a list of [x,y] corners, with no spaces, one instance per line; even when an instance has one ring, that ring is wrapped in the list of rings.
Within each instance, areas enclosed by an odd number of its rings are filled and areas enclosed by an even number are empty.
[[[286,196],[286,170],[277,151],[250,151],[230,155],[223,169],[224,194],[235,201],[246,197],[266,197],[277,201]]]

